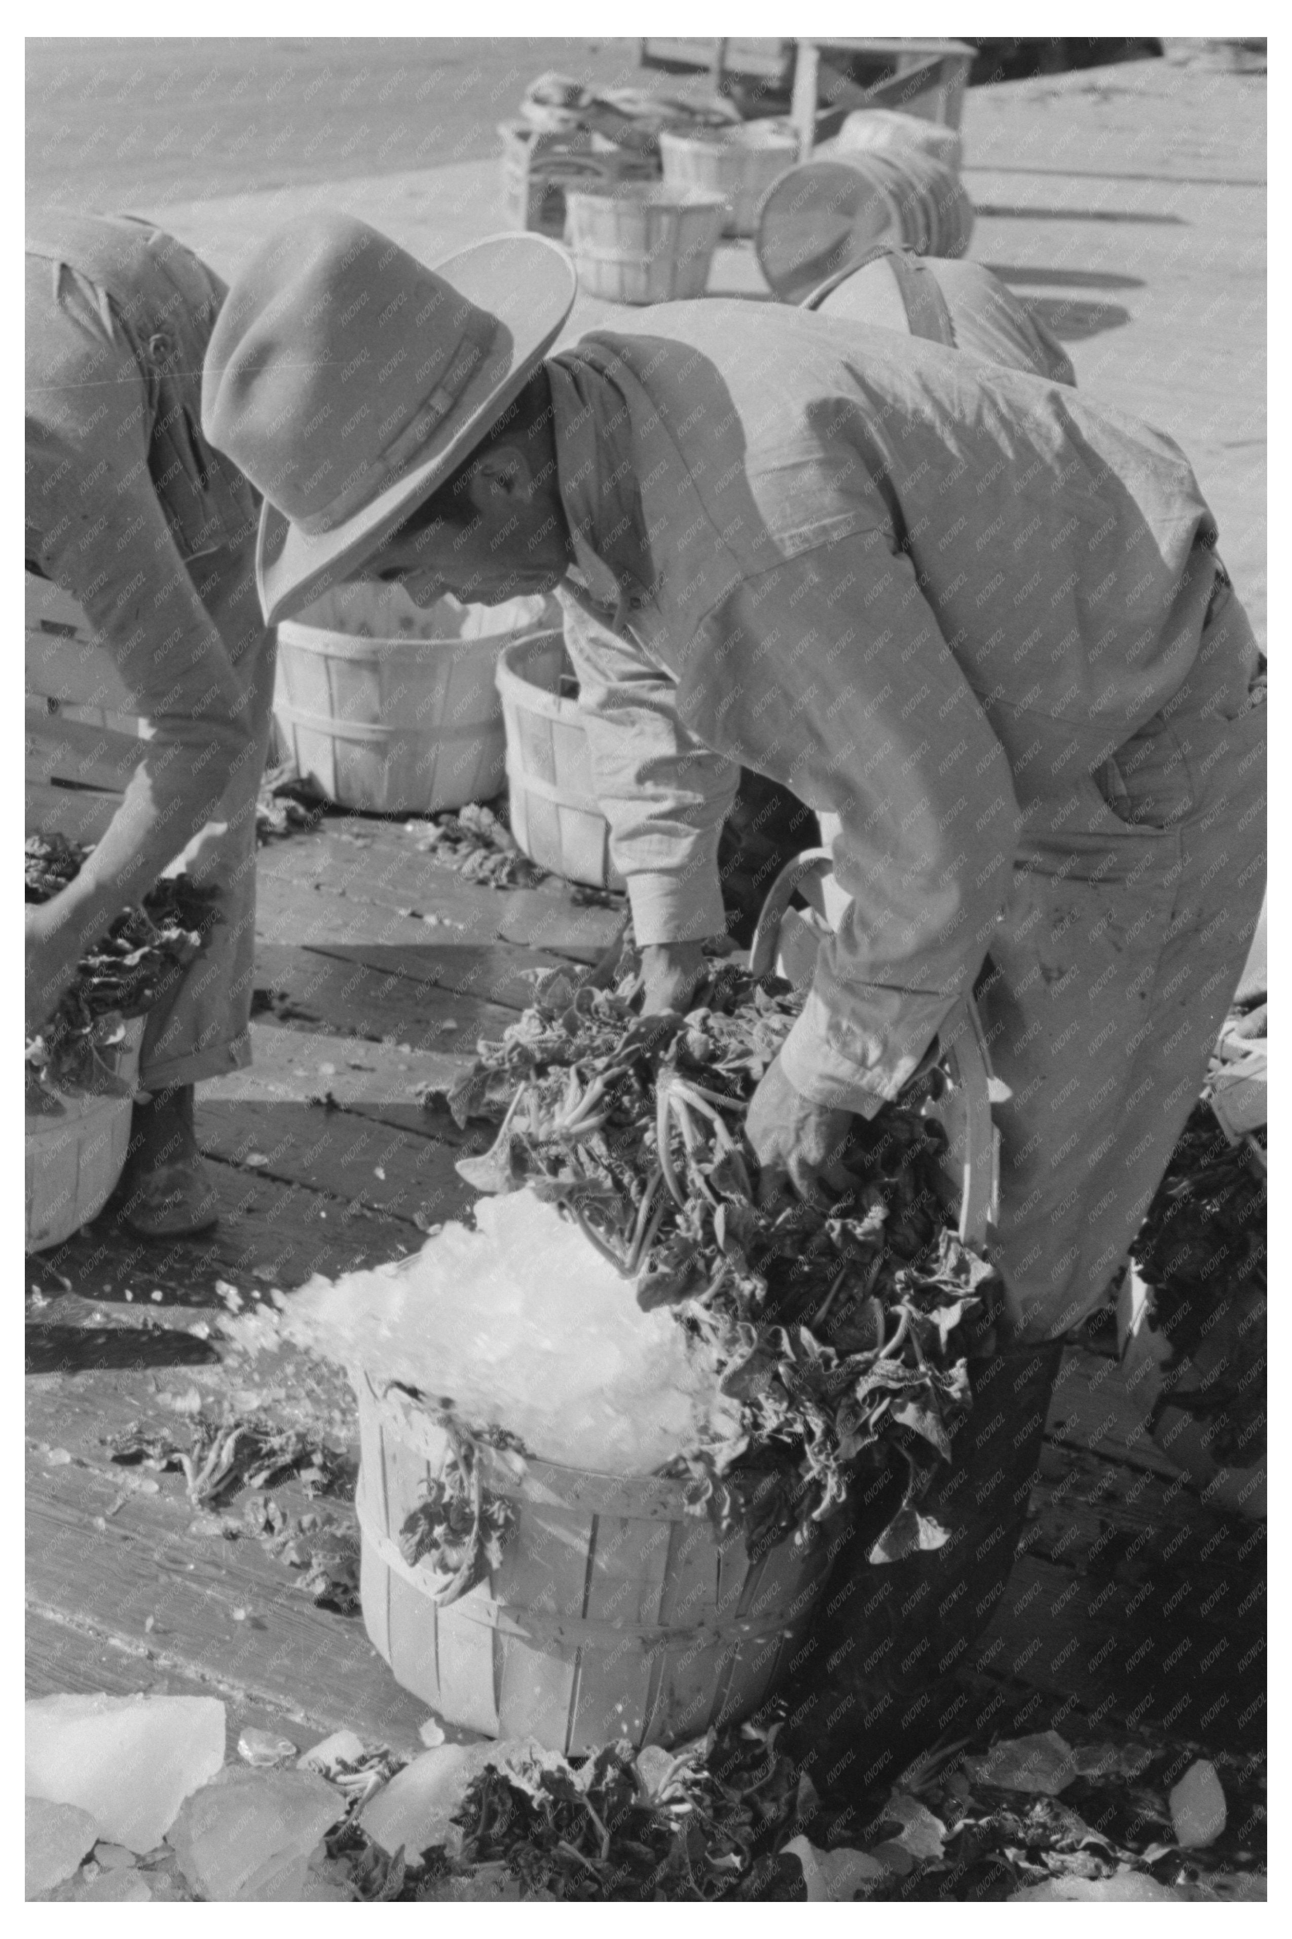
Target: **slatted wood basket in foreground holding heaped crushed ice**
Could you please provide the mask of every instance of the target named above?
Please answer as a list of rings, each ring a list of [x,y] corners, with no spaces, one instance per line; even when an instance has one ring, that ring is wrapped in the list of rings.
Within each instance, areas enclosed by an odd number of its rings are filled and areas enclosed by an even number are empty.
[[[440,1716],[568,1755],[628,1737],[678,1743],[750,1716],[775,1689],[825,1584],[825,1543],[752,1555],[688,1514],[684,1485],[477,1448],[506,1499],[502,1563],[455,1602],[399,1549],[453,1460],[415,1396],[356,1377],[360,1594],[372,1644]]]

